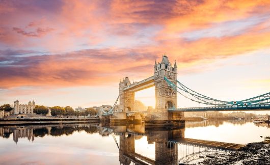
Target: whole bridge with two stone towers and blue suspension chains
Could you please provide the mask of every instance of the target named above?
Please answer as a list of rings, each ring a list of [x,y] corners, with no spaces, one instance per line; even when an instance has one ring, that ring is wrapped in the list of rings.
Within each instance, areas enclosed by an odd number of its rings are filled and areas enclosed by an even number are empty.
[[[141,121],[146,126],[179,125],[184,122],[184,112],[205,111],[258,111],[270,110],[270,92],[245,100],[223,101],[214,99],[184,86],[177,80],[176,61],[172,65],[167,56],[154,64],[154,75],[131,84],[128,77],[119,82],[119,95],[109,111],[101,111],[101,119],[110,122]],[[155,87],[155,108],[134,111],[135,92]],[[178,107],[177,94],[203,107]],[[119,104],[117,104],[119,101]]]

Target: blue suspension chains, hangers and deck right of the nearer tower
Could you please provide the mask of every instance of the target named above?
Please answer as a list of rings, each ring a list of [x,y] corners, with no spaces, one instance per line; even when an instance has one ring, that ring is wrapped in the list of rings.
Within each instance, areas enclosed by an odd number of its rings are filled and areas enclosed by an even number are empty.
[[[214,99],[205,95],[202,95],[198,92],[195,92],[191,90],[190,88],[187,88],[184,86],[181,82],[177,80],[177,85],[173,84],[167,77],[164,77],[166,82],[170,87],[172,87],[176,92],[178,92],[180,95],[184,96],[187,99],[190,99],[192,101],[206,104],[206,105],[212,105],[212,107],[196,107],[196,108],[169,108],[169,111],[174,111],[176,109],[179,109],[178,111],[206,111],[206,109],[218,109],[217,111],[226,111],[226,109],[269,109],[270,106],[270,92],[265,93],[263,95],[255,96],[249,99],[240,100],[240,101],[223,101]],[[255,105],[255,106],[253,106]],[[267,106],[265,106],[267,105]],[[218,108],[218,107],[219,108]],[[254,108],[255,107],[255,108]],[[200,110],[199,110],[200,109]],[[204,109],[204,110],[203,110]]]

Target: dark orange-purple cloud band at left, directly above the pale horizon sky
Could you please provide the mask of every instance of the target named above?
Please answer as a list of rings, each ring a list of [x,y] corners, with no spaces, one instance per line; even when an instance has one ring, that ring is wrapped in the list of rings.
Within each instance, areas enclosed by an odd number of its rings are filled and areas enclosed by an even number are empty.
[[[136,56],[137,53],[140,55]],[[155,54],[136,49],[87,49],[66,54],[17,57],[16,60],[11,58],[10,63],[1,66],[0,76],[9,78],[0,80],[0,88],[110,84],[118,81],[123,73],[140,72],[137,67],[149,65],[148,70],[152,70],[155,57]],[[130,68],[134,68],[133,71]]]

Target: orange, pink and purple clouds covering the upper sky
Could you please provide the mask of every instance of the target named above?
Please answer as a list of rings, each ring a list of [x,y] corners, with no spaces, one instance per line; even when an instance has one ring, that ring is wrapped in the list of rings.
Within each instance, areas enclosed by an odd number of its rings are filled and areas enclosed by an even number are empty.
[[[151,75],[163,53],[184,68],[270,47],[269,8],[237,0],[4,1],[1,88],[103,85]]]

